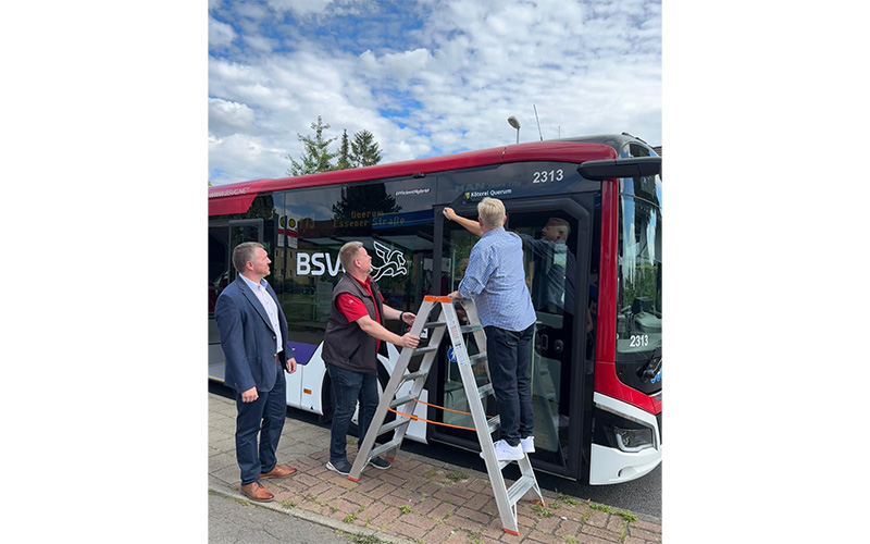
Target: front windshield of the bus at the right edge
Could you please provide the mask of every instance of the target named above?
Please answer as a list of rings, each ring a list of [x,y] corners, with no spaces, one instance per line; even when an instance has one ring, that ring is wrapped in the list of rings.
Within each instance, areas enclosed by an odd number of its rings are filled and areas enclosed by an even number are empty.
[[[622,181],[619,220],[617,358],[661,348],[661,180]]]

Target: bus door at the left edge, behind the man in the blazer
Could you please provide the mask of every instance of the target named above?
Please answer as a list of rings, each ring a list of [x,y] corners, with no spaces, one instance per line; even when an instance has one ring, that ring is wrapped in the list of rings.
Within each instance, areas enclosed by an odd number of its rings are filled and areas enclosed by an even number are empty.
[[[244,242],[263,244],[263,220],[246,219],[209,222],[209,379],[224,381],[224,351],[214,320],[217,296],[236,280],[233,248]]]

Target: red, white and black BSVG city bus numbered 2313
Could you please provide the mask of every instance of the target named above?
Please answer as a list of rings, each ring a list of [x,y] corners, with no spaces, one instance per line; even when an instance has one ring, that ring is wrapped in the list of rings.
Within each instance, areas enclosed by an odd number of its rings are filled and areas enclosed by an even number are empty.
[[[591,484],[651,471],[662,447],[660,158],[627,134],[210,187],[209,378],[224,375],[213,311],[236,275],[232,249],[261,242],[300,363],[287,376],[287,405],[328,418],[321,348],[343,273],[338,249],[362,242],[386,302],[417,311],[424,295],[457,288],[477,240],[444,208],[474,219],[486,196],[505,202],[506,228],[523,237],[538,317],[533,466]],[[548,224],[567,238],[547,239]],[[402,333],[398,322],[387,326]],[[385,344],[382,384],[398,358]],[[455,411],[420,404],[414,413],[452,426],[413,421],[407,436],[480,450],[475,434],[459,429],[473,425],[447,343],[442,350],[421,399]],[[492,397],[486,409],[496,413]]]

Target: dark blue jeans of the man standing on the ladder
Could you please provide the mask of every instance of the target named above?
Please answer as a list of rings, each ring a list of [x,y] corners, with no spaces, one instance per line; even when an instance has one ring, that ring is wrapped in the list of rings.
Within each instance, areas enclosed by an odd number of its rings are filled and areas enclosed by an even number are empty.
[[[501,419],[501,440],[511,446],[530,436],[535,424],[530,379],[534,327],[532,324],[520,332],[492,325],[484,327],[489,378]]]

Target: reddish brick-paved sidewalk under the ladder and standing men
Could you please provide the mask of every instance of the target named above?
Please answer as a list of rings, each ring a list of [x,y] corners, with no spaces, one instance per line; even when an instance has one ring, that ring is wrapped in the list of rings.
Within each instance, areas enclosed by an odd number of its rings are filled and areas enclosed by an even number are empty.
[[[235,417],[233,400],[209,394],[209,491],[248,500],[238,491]],[[546,490],[546,507],[518,503],[520,535],[514,536],[501,528],[486,474],[400,450],[391,468],[368,467],[355,483],[326,469],[328,435],[328,429],[287,418],[277,458],[298,472],[263,481],[275,500],[252,504],[395,544],[661,542],[657,518]],[[356,449],[348,444],[351,462]]]

